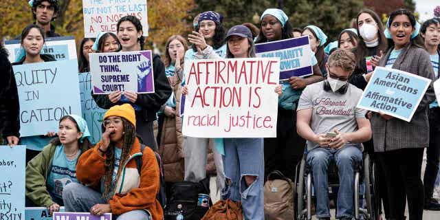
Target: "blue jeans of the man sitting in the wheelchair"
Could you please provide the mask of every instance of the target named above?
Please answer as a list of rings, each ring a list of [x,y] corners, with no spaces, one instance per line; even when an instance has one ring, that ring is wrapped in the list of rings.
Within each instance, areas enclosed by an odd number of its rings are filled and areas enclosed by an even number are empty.
[[[336,218],[353,217],[354,166],[357,162],[362,162],[362,152],[357,146],[339,149],[318,147],[307,153],[307,164],[311,166],[316,193],[316,217],[330,217],[327,170],[331,159],[338,166],[340,182]]]

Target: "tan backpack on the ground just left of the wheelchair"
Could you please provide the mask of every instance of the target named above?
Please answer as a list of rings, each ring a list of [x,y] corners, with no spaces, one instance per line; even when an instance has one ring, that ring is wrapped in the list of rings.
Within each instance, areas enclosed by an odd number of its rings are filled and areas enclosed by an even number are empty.
[[[278,170],[264,184],[264,213],[266,220],[294,219],[294,184]]]

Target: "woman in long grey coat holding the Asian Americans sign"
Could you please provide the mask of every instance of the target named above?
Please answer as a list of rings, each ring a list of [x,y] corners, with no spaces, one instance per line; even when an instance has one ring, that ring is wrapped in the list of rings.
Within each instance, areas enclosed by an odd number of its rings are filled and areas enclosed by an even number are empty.
[[[391,13],[385,31],[385,36],[391,39],[391,45],[379,66],[434,80],[429,54],[418,43],[419,26],[414,14],[406,9]],[[366,75],[367,81],[372,74]],[[404,78],[395,74],[393,77],[396,82]],[[434,98],[431,83],[410,122],[384,113],[371,115],[374,150],[384,170],[391,219],[405,218],[406,200],[410,219],[422,219],[421,162],[424,148],[429,145],[428,107]]]

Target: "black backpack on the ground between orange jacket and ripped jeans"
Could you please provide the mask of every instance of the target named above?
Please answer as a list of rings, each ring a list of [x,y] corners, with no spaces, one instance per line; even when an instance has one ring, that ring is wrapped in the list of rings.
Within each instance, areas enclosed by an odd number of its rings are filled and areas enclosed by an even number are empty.
[[[200,220],[209,207],[197,206],[199,193],[209,195],[209,177],[199,182],[175,183],[171,187],[170,199],[164,209],[164,219],[175,220],[181,214],[185,220]]]

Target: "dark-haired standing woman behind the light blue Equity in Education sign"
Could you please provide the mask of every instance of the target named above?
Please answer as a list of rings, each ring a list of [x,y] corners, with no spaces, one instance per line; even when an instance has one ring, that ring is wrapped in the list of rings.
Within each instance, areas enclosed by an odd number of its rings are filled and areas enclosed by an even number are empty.
[[[25,51],[25,56],[17,63],[12,65],[22,65],[26,63],[39,63],[55,61],[54,56],[50,54],[40,54],[45,43],[43,29],[39,25],[28,25],[21,32],[21,47]],[[21,137],[20,144],[26,145],[26,162],[35,157],[50,141],[50,137],[56,135],[53,131],[48,131],[47,135]]]

